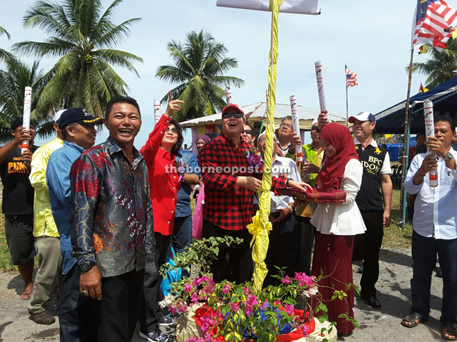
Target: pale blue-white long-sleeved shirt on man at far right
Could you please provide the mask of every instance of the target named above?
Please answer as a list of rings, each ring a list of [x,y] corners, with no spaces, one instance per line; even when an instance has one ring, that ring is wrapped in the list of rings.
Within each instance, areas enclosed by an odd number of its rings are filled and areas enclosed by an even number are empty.
[[[457,159],[457,152],[449,151]],[[446,162],[438,160],[438,187],[430,187],[429,175],[422,183],[415,185],[413,178],[427,153],[419,153],[411,161],[404,181],[407,193],[418,194],[414,202],[413,229],[427,238],[451,240],[457,238],[456,201],[457,172],[446,167]]]

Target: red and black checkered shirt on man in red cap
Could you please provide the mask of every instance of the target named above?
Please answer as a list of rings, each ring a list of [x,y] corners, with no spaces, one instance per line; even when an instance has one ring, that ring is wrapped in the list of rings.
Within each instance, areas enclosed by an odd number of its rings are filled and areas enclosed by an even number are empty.
[[[262,177],[262,166],[249,164],[251,145],[241,140],[235,146],[224,133],[204,144],[199,154],[205,185],[204,218],[217,227],[241,230],[252,222],[254,192],[235,186],[239,176]],[[284,188],[286,178],[271,178],[272,188]]]

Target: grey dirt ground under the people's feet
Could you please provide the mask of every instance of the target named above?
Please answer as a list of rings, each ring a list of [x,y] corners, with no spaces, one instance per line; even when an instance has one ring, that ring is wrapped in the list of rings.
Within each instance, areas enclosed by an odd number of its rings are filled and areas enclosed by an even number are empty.
[[[440,307],[442,297],[442,280],[433,272],[431,283],[431,314],[430,319],[418,327],[408,329],[400,325],[400,319],[410,310],[410,279],[412,276],[412,259],[409,250],[383,249],[380,256],[380,274],[377,283],[380,310],[374,310],[360,298],[355,298],[355,319],[360,329],[342,341],[382,341],[382,342],[422,342],[443,341],[440,338]],[[357,273],[359,263],[352,269],[354,282],[359,284],[360,274]],[[59,341],[59,325],[38,325],[29,319],[26,301],[21,301],[23,284],[18,274],[0,273],[0,341],[6,342],[38,342]],[[56,299],[47,303],[53,314],[57,312]],[[168,331],[172,333],[172,331]],[[134,342],[145,341],[138,337],[137,331],[132,339]]]

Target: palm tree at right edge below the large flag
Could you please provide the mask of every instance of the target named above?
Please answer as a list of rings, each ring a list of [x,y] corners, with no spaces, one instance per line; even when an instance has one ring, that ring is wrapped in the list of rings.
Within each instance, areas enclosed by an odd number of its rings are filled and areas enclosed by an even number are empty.
[[[457,76],[457,39],[450,38],[447,48],[442,51],[430,46],[429,53],[430,58],[425,63],[413,63],[413,73],[427,76],[427,88],[431,89]]]

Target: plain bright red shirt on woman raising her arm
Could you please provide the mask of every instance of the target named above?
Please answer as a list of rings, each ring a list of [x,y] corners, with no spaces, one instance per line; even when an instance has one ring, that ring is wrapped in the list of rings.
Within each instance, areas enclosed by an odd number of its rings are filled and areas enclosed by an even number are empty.
[[[177,192],[181,185],[174,155],[160,148],[168,124],[170,119],[162,115],[140,150],[149,173],[154,231],[163,235],[173,234]]]

